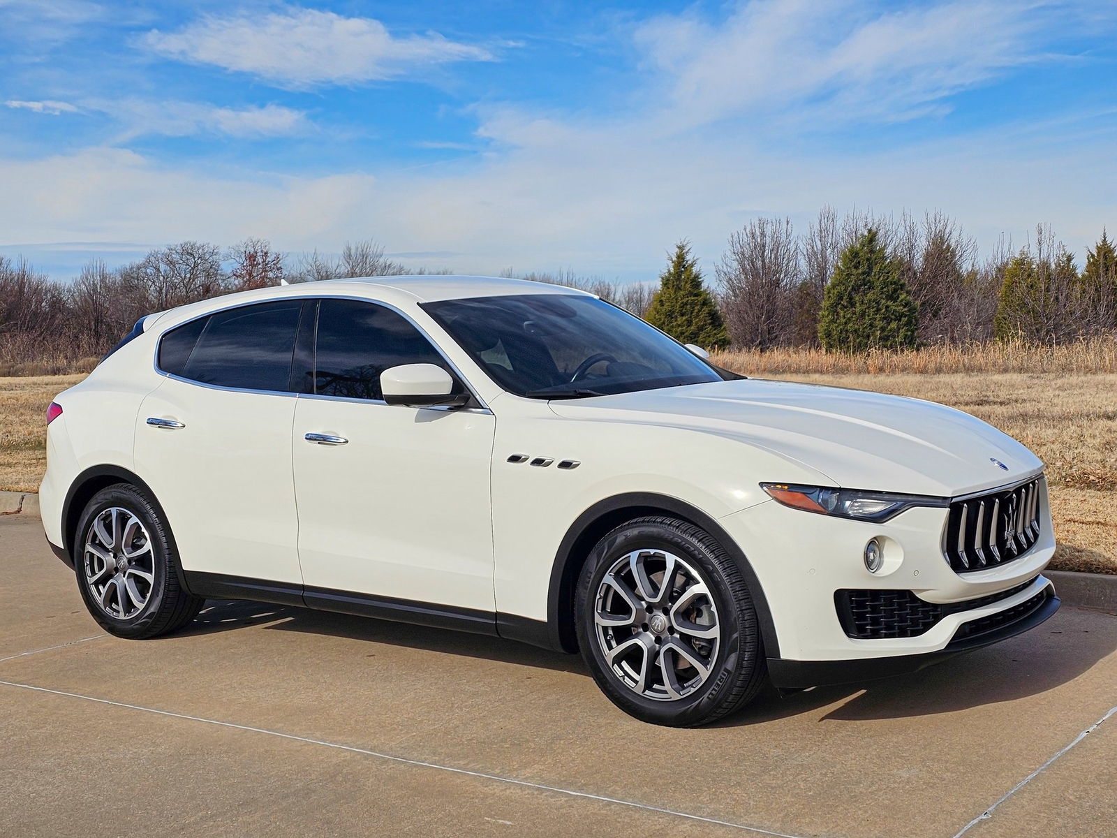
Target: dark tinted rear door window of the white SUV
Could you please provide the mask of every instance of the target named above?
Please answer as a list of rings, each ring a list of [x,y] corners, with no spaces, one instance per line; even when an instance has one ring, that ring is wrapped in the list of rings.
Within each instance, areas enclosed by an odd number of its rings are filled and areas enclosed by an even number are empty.
[[[302,307],[302,301],[284,301],[246,305],[210,315],[179,374],[219,387],[286,391]],[[164,341],[172,334],[168,334]],[[187,340],[184,336],[182,343]],[[173,343],[169,349],[181,354],[181,347]],[[171,360],[170,353],[168,360]],[[173,372],[162,361],[161,345],[160,365]]]

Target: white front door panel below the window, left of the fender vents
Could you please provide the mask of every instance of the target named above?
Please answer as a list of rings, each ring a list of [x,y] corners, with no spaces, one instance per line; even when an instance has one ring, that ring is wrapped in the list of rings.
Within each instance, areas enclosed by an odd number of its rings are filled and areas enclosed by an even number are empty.
[[[299,398],[292,449],[305,583],[493,611],[495,425],[480,411]],[[347,441],[315,445],[306,434]]]

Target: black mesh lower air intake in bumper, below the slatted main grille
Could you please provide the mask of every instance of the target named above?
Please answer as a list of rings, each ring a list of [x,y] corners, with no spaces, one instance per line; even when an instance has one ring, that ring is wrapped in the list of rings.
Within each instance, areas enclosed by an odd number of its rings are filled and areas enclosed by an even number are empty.
[[[842,629],[849,637],[859,640],[877,640],[882,638],[918,637],[926,634],[930,628],[947,615],[958,611],[972,611],[975,608],[1000,602],[1028,588],[1038,577],[1029,579],[1006,591],[997,591],[978,599],[970,599],[964,602],[951,602],[938,604],[919,599],[911,591],[887,591],[887,590],[841,590],[834,592],[834,607],[838,609],[838,619]],[[1050,585],[1049,585],[1050,587]],[[1031,602],[1031,600],[1029,600]],[[1016,606],[1002,613],[1009,613],[1021,608]],[[974,622],[983,620],[999,619],[1000,615],[985,617]],[[1010,620],[1003,620],[1008,622]],[[963,629],[972,623],[964,623]],[[1002,625],[1002,623],[996,623]],[[996,626],[993,626],[995,628]],[[982,629],[982,631],[987,629]],[[978,632],[980,634],[980,632]],[[961,629],[958,636],[961,637]]]

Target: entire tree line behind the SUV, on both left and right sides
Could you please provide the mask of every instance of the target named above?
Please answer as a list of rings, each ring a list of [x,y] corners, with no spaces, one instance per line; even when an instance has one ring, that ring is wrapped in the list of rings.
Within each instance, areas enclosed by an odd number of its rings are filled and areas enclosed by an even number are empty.
[[[183,241],[117,268],[93,260],[71,282],[0,258],[0,363],[96,358],[145,314],[280,280],[409,273],[428,272],[392,261],[371,240],[336,257],[295,258],[264,239],[227,249]],[[1117,251],[1105,231],[1079,270],[1049,226],[1020,249],[1001,241],[982,257],[942,212],[839,217],[827,207],[802,234],[790,219],[758,218],[729,236],[708,287],[686,241],[658,286],[569,270],[503,276],[580,287],[707,347],[1058,344],[1117,330]]]

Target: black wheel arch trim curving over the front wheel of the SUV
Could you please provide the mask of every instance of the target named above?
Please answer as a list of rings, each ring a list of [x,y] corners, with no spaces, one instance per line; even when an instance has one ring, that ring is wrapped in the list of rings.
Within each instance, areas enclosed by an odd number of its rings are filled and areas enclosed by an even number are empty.
[[[765,654],[768,657],[779,658],[780,641],[776,637],[775,623],[772,620],[772,611],[768,608],[760,579],[744,551],[720,524],[701,510],[677,497],[650,492],[630,492],[599,501],[579,515],[566,531],[566,535],[563,536],[558,544],[558,551],[555,553],[554,564],[551,568],[551,584],[547,591],[547,639],[551,648],[558,651],[577,651],[573,619],[564,620],[563,616],[573,615],[573,592],[577,573],[593,545],[609,530],[624,520],[663,514],[675,515],[701,527],[733,558],[753,598],[753,607],[756,609],[756,619],[760,623]]]

